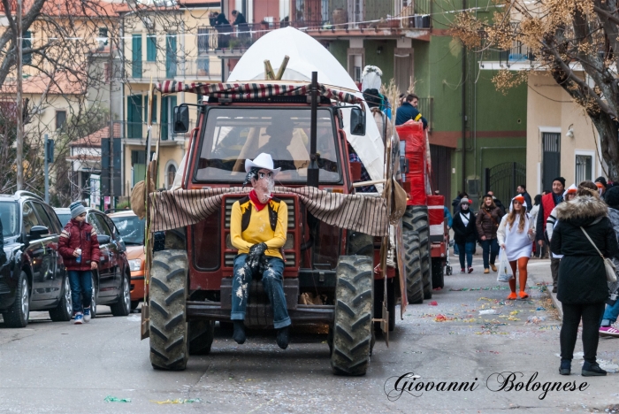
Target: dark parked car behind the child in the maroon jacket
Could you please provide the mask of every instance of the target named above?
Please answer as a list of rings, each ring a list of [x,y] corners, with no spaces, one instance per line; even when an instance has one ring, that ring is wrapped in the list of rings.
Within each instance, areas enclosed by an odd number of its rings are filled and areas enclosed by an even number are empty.
[[[56,210],[62,214],[68,209]],[[126,316],[131,312],[131,273],[125,242],[103,212],[93,208],[86,212],[86,221],[95,228],[101,250],[99,268],[93,271],[92,318],[96,317],[97,305],[109,305],[112,315]]]

